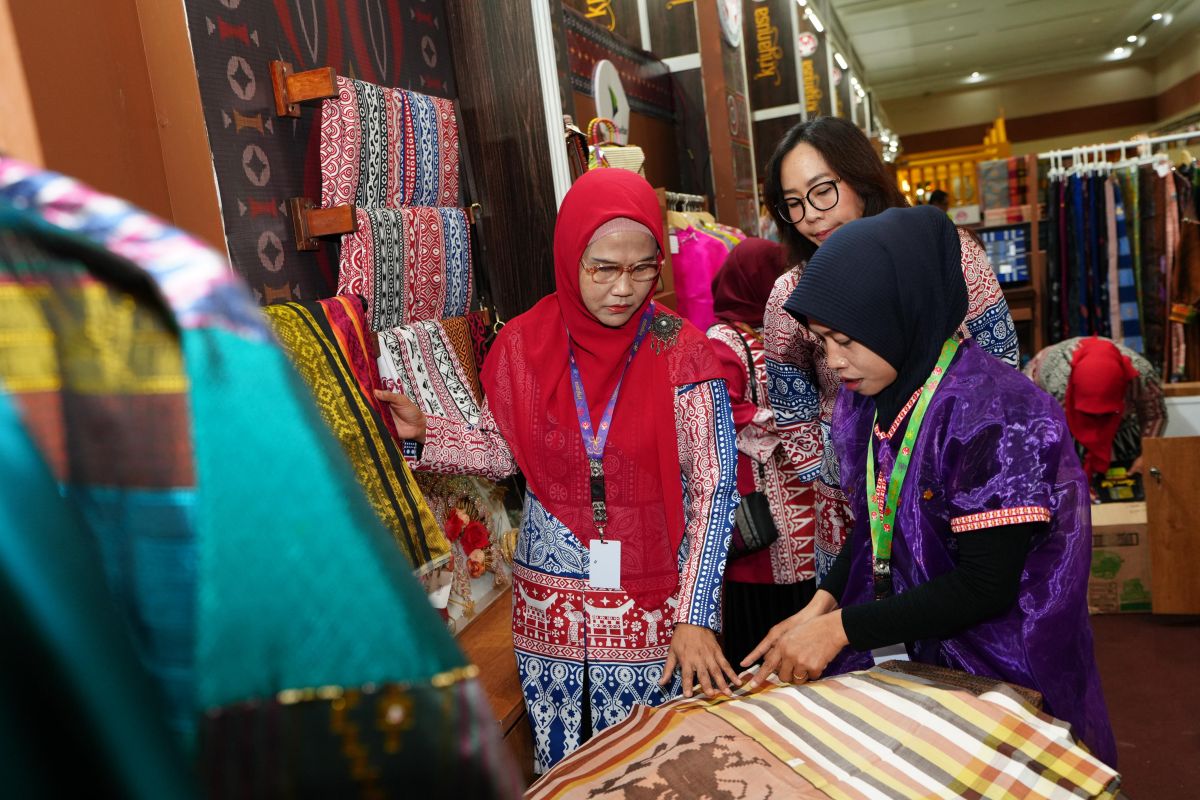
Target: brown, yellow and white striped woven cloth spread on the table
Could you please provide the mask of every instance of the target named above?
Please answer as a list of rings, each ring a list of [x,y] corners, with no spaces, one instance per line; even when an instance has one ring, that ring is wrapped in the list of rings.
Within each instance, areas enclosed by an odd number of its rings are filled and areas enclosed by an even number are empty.
[[[732,699],[636,706],[527,798],[1115,798],[1066,723],[997,685],[976,697],[883,669]]]

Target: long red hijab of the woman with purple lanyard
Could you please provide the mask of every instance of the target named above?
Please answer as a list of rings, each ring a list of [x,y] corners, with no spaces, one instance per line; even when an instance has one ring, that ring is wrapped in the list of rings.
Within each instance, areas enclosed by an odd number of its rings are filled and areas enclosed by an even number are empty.
[[[599,421],[650,302],[648,295],[620,327],[604,325],[583,303],[580,259],[596,228],[618,217],[649,228],[662,249],[661,210],[646,179],[625,169],[596,169],[571,186],[554,227],[556,291],[504,326],[482,372],[488,408],[529,491],[584,545],[599,533],[571,392],[568,331],[592,419]],[[674,315],[665,308],[656,313]],[[653,344],[650,332],[630,362],[604,458],[605,537],[622,542],[622,587],[646,609],[660,607],[678,587],[684,504],[676,387],[720,377],[708,339],[686,321],[661,353]]]

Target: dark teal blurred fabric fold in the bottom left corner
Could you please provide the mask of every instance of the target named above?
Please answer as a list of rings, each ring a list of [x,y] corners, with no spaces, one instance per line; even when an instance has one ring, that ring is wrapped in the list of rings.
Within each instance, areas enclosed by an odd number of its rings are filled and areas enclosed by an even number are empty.
[[[0,474],[0,786],[196,796],[85,523],[4,392]]]

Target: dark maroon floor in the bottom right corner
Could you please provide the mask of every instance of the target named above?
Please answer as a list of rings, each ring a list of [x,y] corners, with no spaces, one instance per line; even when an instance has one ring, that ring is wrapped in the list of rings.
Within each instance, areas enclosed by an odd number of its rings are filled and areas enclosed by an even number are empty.
[[[1200,616],[1092,616],[1130,800],[1200,795]]]

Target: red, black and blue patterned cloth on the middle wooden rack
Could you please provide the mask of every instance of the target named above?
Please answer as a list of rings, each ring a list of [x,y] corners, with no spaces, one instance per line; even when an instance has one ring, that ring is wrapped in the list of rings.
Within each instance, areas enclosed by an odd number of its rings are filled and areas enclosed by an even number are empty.
[[[470,303],[470,230],[462,209],[355,210],[342,236],[337,293],[362,295],[373,331],[462,317]]]

